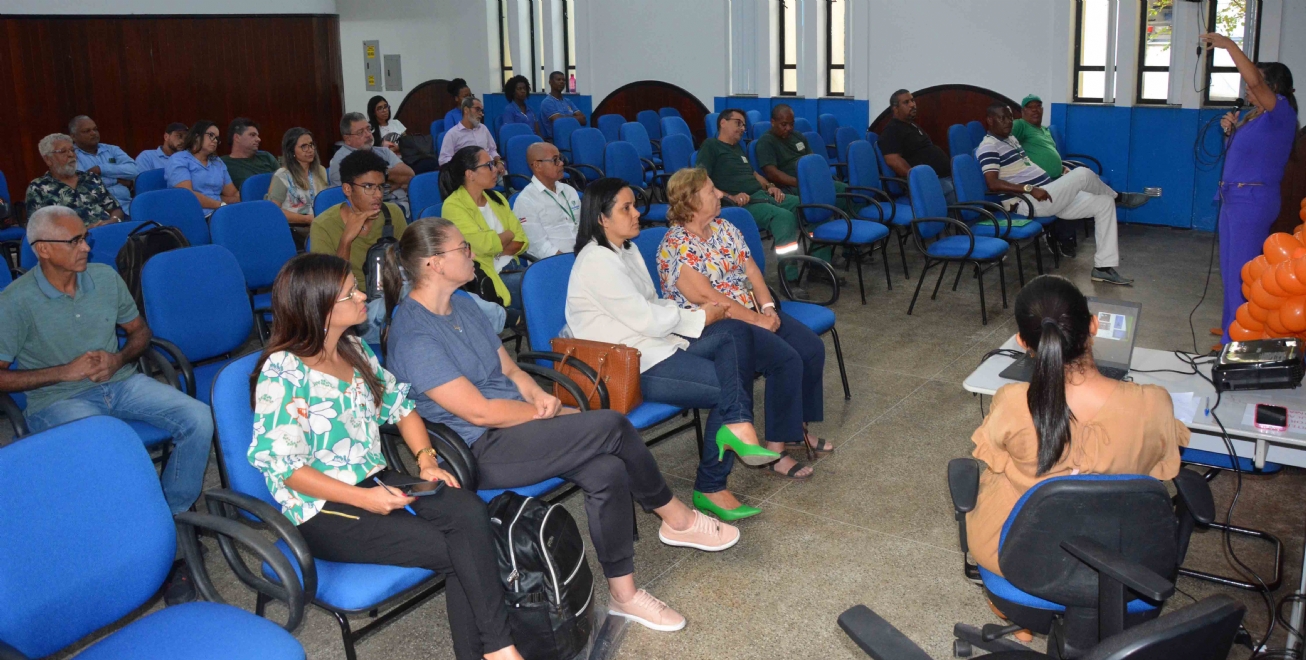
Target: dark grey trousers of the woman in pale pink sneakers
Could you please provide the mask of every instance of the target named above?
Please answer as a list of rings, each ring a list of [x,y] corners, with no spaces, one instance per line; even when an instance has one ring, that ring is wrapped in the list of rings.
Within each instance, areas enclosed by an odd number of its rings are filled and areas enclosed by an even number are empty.
[[[635,572],[631,497],[650,511],[671,501],[653,455],[615,410],[562,414],[490,429],[471,443],[483,489],[529,486],[562,477],[585,491],[589,537],[603,575]]]

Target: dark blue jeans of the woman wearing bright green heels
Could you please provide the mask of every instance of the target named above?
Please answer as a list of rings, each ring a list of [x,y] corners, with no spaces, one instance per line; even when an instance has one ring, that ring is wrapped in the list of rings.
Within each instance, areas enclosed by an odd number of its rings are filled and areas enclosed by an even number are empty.
[[[735,342],[735,336],[748,333],[743,322],[721,320],[708,329],[712,332],[690,340],[688,349],[677,350],[641,374],[640,391],[646,401],[710,409],[693,489],[717,493],[725,490],[734,468],[733,452],[717,460],[717,430],[726,423],[752,422],[752,358],[742,354]]]

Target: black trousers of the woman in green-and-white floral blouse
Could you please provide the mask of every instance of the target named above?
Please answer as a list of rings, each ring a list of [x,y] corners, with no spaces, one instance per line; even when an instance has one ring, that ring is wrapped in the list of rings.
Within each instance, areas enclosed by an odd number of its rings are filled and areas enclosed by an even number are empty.
[[[417,481],[389,469],[377,476],[387,484]],[[366,480],[359,487],[375,484]],[[503,602],[485,502],[475,493],[445,487],[417,498],[411,507],[415,516],[402,508],[383,516],[328,502],[299,525],[299,533],[319,559],[411,566],[444,574],[453,655],[458,660],[475,660],[511,646],[508,608]]]

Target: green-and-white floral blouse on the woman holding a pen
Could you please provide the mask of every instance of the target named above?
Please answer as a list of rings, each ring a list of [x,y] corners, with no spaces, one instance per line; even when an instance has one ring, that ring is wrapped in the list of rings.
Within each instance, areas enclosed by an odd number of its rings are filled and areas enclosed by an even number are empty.
[[[359,344],[385,386],[380,408],[357,371],[351,382],[343,382],[282,350],[268,355],[259,372],[247,457],[268,480],[281,512],[296,525],[317,515],[326,502],[286,487],[290,474],[308,465],[358,485],[385,468],[379,426],[398,422],[414,408],[407,384],[381,369],[367,344]]]

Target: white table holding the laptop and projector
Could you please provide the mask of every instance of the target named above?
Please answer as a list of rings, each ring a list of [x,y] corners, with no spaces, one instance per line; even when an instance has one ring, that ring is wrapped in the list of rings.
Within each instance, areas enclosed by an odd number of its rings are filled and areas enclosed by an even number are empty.
[[[1015,335],[1012,335],[1011,338],[1002,345],[1002,348],[1017,352],[1021,350],[1016,344]],[[998,375],[1015,361],[1015,358],[1007,355],[993,355],[983,361],[978,369],[972,371],[970,375],[966,376],[965,382],[963,382],[961,387],[964,387],[966,392],[993,396],[993,393],[1002,386],[1015,383],[1015,380],[1008,380]],[[1215,387],[1212,387],[1204,378],[1195,374],[1181,375],[1165,372],[1139,372],[1157,369],[1173,369],[1175,371],[1192,370],[1192,367],[1181,361],[1173,352],[1144,348],[1134,349],[1134,358],[1130,362],[1130,378],[1135,383],[1161,386],[1175,393],[1192,392],[1198,399],[1207,397],[1208,403],[1199,405],[1194,418],[1186,422],[1188,429],[1192,431],[1192,439],[1188,446],[1195,450],[1205,450],[1228,455],[1229,450],[1225,447],[1224,439],[1220,437],[1220,426],[1211,417],[1211,414],[1207,414],[1205,412],[1208,405],[1215,405],[1216,403]],[[1207,378],[1211,376],[1211,365],[1200,365],[1198,369],[1200,369]],[[1220,422],[1224,423],[1229,439],[1233,442],[1234,451],[1239,456],[1252,459],[1258,469],[1264,467],[1267,460],[1271,463],[1306,468],[1306,434],[1292,430],[1266,431],[1256,429],[1255,426],[1242,423],[1247,404],[1275,404],[1282,405],[1289,410],[1306,410],[1306,388],[1225,392],[1220,400],[1220,406],[1215,410],[1215,414],[1220,417]],[[1306,548],[1302,549],[1302,579],[1297,588],[1297,593],[1306,593]],[[1294,629],[1301,630],[1303,619],[1306,619],[1306,606],[1303,606],[1302,601],[1298,600],[1293,604],[1289,622]],[[1297,648],[1301,643],[1302,640],[1298,639],[1297,635],[1292,633],[1288,634],[1288,648]]]

